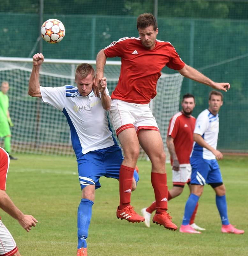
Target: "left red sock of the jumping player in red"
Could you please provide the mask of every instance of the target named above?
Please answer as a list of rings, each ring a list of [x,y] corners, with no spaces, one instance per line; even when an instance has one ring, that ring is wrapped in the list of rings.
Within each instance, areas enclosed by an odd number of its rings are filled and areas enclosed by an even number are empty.
[[[134,168],[121,165],[120,168],[120,205],[119,210],[125,208],[130,204],[131,192],[132,192],[132,178],[133,178]]]

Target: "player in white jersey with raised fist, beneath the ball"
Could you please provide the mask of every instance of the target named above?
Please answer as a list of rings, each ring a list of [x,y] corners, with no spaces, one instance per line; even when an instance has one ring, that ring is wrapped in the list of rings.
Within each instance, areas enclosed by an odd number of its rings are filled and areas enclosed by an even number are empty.
[[[77,87],[42,87],[39,71],[44,57],[42,53],[33,56],[33,69],[29,79],[28,94],[61,110],[71,129],[71,142],[75,151],[82,199],[78,208],[78,252],[87,255],[86,238],[92,215],[95,189],[100,188],[101,176],[119,179],[119,169],[123,161],[109,126],[107,111],[111,99],[106,78],[99,79],[100,98],[95,97],[92,86],[95,79],[94,68],[86,63],[77,66],[75,82]],[[138,173],[133,175],[132,190],[136,188]],[[130,216],[125,216],[129,218]]]

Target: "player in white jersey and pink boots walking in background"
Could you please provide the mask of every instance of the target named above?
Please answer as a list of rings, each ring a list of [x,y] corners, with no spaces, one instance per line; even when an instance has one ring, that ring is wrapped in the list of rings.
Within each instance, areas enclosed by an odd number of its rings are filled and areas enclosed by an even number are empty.
[[[189,221],[203,193],[204,185],[209,184],[216,193],[216,206],[222,221],[222,233],[243,234],[244,230],[234,228],[234,226],[229,223],[227,216],[226,188],[222,182],[222,175],[217,163],[217,160],[222,160],[223,158],[222,153],[216,149],[219,133],[218,112],[223,104],[222,93],[216,91],[210,92],[208,103],[209,108],[202,111],[196,120],[193,135],[195,142],[190,158],[190,164],[192,166],[192,193],[185,205],[184,218],[180,232],[200,234],[199,231],[194,230],[189,225]]]

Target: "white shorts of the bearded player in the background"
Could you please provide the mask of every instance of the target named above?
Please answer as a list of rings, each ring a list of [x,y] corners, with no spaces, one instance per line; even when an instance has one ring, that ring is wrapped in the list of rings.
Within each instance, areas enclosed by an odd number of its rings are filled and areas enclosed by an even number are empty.
[[[184,186],[191,178],[191,165],[190,164],[180,164],[179,171],[172,170],[172,181],[173,185]]]

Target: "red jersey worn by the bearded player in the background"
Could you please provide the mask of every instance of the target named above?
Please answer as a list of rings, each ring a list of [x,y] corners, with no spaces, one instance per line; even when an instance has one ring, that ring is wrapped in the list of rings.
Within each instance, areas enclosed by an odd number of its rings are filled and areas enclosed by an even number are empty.
[[[170,119],[167,136],[174,139],[179,164],[190,163],[195,121],[195,117],[185,116],[182,112],[178,112]],[[170,158],[170,163],[173,164],[172,158]]]

